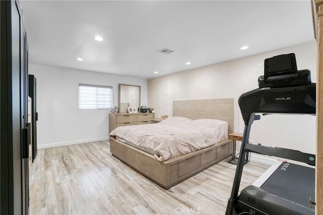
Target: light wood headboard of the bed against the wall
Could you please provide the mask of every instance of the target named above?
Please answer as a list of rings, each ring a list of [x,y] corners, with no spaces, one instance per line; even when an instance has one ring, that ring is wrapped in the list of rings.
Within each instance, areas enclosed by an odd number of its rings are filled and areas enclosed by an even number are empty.
[[[234,99],[204,99],[173,101],[173,116],[189,119],[220,119],[229,123],[229,133],[234,131]]]

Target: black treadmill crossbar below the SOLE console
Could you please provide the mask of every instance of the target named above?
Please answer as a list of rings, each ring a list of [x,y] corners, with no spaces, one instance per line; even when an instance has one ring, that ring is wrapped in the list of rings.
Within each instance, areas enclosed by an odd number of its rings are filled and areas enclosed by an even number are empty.
[[[315,166],[315,155],[303,153],[297,150],[246,144],[245,151],[290,159],[293,161],[299,161],[311,166]]]

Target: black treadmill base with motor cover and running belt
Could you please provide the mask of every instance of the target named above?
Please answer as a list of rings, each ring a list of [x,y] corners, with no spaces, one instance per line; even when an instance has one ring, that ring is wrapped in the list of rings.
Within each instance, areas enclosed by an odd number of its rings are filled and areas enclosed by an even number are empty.
[[[238,198],[237,211],[251,214],[311,215],[315,206],[315,169],[282,163],[259,187],[244,188]]]

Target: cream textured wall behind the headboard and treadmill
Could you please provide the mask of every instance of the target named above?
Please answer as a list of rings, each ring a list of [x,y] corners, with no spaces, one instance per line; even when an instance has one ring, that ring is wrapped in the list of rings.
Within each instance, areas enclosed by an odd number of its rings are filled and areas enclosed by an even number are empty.
[[[250,47],[252,48],[252,47]],[[298,69],[309,69],[316,82],[316,41],[182,71],[148,80],[148,106],[155,115],[173,114],[174,100],[235,99],[235,132],[243,132],[238,107],[242,93],[258,88],[265,58],[295,53]],[[192,62],[193,64],[194,62]],[[196,110],[200,111],[200,110]],[[255,121],[250,138],[265,146],[284,147],[315,153],[315,116],[267,115]]]

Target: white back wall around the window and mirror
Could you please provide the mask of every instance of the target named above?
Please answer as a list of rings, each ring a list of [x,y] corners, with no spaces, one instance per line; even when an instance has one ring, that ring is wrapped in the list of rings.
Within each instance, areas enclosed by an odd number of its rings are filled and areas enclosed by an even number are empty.
[[[38,149],[109,138],[110,110],[79,110],[79,84],[112,86],[116,106],[119,84],[140,85],[147,104],[146,79],[37,64],[29,64],[29,74],[37,79]]]

